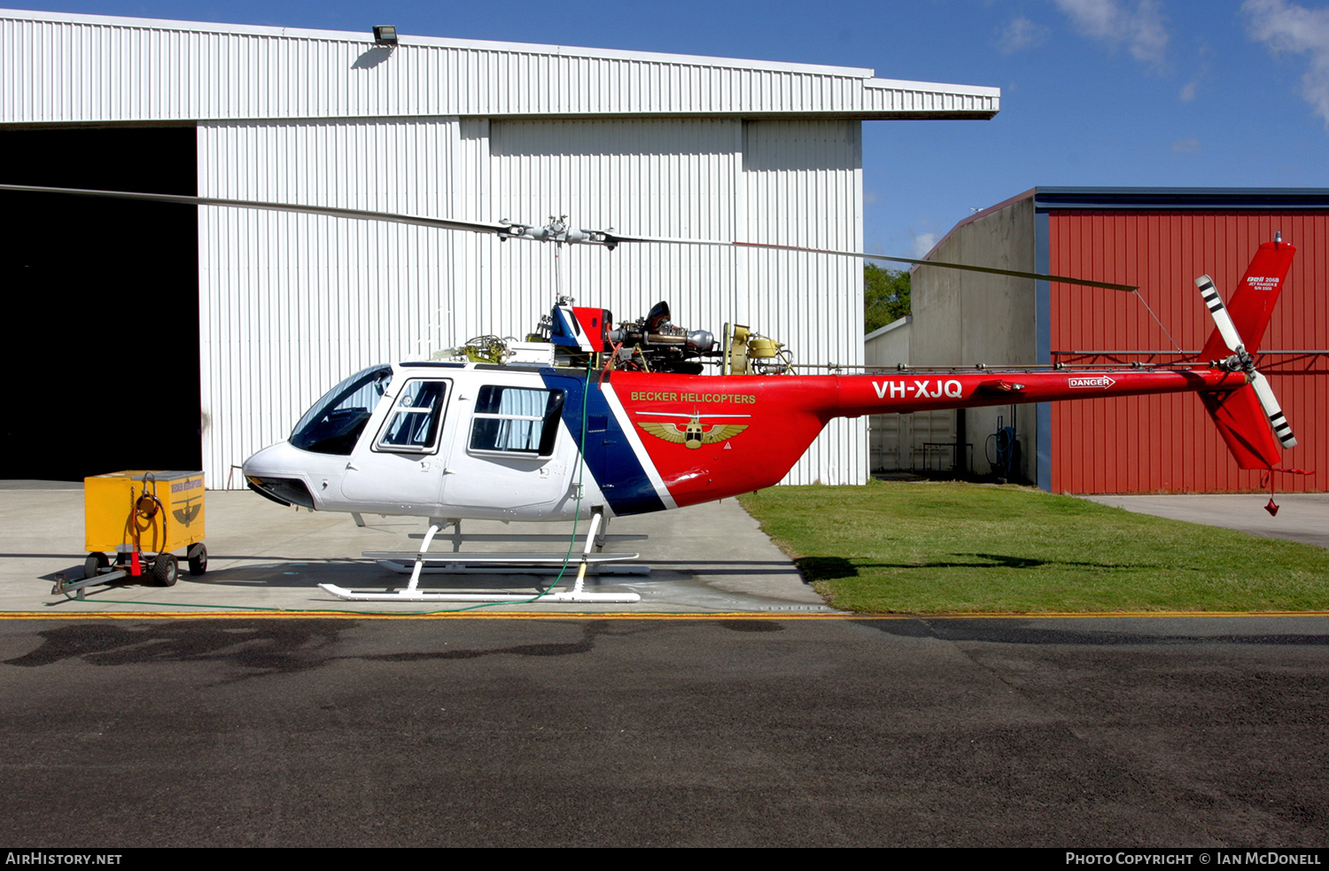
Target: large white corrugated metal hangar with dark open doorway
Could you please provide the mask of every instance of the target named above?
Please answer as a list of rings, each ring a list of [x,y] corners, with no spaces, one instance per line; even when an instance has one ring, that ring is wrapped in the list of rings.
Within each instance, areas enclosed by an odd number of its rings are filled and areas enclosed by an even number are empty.
[[[861,121],[990,118],[995,88],[869,69],[0,12],[0,174],[110,187],[817,247],[863,247]],[[76,360],[89,431],[4,427],[5,477],[234,464],[364,366],[522,335],[548,246],[320,215],[4,194],[11,287],[58,324],[12,371]],[[21,257],[11,257],[21,254]],[[851,258],[573,249],[581,305],[748,323],[803,362],[863,360]],[[76,338],[68,326],[78,324]],[[54,338],[60,336],[60,338]],[[92,363],[89,366],[89,363]],[[100,411],[153,408],[155,426]],[[117,436],[120,437],[117,441]],[[787,481],[867,479],[837,420]],[[238,479],[239,476],[237,476]],[[234,481],[235,487],[241,483]]]

